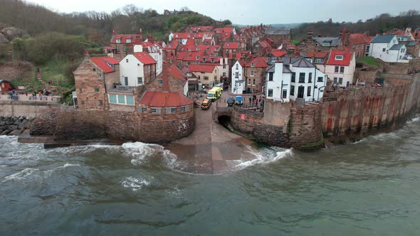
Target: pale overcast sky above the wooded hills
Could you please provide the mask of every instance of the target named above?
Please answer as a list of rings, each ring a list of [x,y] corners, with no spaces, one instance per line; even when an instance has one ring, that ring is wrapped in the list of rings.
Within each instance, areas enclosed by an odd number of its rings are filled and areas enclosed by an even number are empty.
[[[192,11],[216,20],[229,19],[237,24],[301,23],[327,21],[357,21],[382,13],[397,15],[409,9],[420,10],[419,0],[28,0],[59,12],[107,11],[126,4],[143,9],[154,9],[162,14],[164,9],[187,6]]]

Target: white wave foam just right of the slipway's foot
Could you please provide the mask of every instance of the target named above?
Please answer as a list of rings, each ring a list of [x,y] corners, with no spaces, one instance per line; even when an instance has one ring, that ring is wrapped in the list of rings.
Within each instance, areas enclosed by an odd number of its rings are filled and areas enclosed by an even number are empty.
[[[275,151],[275,150],[256,151],[254,149],[251,149],[251,147],[248,147],[248,152],[253,154],[253,156],[255,156],[255,159],[227,161],[228,166],[233,170],[241,170],[249,166],[272,163],[274,161],[278,161],[280,159],[284,159],[288,156],[293,155],[292,149],[286,149],[283,151]]]

